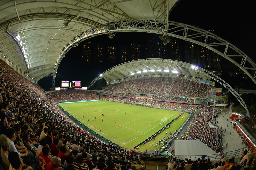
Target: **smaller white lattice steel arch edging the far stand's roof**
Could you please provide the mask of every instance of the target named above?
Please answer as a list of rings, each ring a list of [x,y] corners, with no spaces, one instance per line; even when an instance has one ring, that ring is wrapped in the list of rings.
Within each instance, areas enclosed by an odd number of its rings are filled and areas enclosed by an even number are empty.
[[[236,97],[236,99],[240,102],[240,104],[244,107],[244,109],[246,109],[246,111],[247,111],[247,116],[251,117],[250,114],[249,114],[249,111],[248,111],[248,109],[247,109],[247,107],[246,107],[246,104],[245,104],[245,102],[243,101],[243,99],[241,98],[241,96],[240,96],[240,95],[236,92],[236,90],[234,90],[227,82],[225,82],[224,80],[222,80],[222,79],[221,79],[220,77],[218,77],[217,75],[211,73],[210,71],[207,71],[207,70],[205,70],[205,69],[203,69],[203,68],[200,68],[200,67],[198,67],[197,70],[192,69],[191,66],[194,66],[193,64],[186,63],[186,62],[183,62],[183,61],[178,61],[178,60],[159,59],[159,58],[148,58],[148,59],[139,59],[139,60],[133,60],[133,61],[128,61],[128,62],[125,62],[125,63],[122,63],[122,64],[118,64],[118,65],[116,65],[116,66],[114,66],[114,67],[112,67],[112,68],[110,68],[110,69],[104,71],[101,76],[99,75],[98,77],[96,77],[96,78],[90,83],[90,85],[88,86],[88,89],[89,89],[95,82],[97,82],[99,79],[104,78],[104,75],[108,74],[109,71],[114,70],[114,69],[116,69],[116,68],[118,68],[118,67],[120,67],[120,66],[124,66],[124,65],[127,65],[127,64],[129,65],[129,64],[132,64],[132,63],[134,63],[134,62],[137,63],[137,62],[140,62],[140,61],[146,61],[146,62],[148,62],[148,63],[150,63],[150,62],[158,62],[158,63],[169,63],[169,64],[171,64],[171,65],[178,65],[178,66],[180,66],[180,67],[186,68],[187,70],[192,70],[192,71],[195,72],[195,73],[200,73],[200,74],[202,74],[202,75],[205,75],[205,76],[210,77],[212,80],[215,80],[216,82],[220,83],[220,84],[223,85],[225,88],[227,88],[227,89],[230,91],[230,93],[232,93],[232,94]],[[181,74],[182,74],[182,73],[181,73]],[[126,77],[127,77],[127,76],[130,76],[130,74],[126,75]]]

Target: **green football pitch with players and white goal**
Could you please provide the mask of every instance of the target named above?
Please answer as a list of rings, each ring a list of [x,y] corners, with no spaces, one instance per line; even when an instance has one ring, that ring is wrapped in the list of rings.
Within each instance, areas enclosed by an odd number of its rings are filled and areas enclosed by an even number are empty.
[[[134,106],[106,100],[62,103],[59,105],[96,133],[119,146],[129,149],[133,149],[134,146],[155,134],[181,113],[180,111]],[[188,114],[185,113],[185,115],[187,118]],[[84,117],[82,118],[82,116]],[[159,124],[164,117],[169,118],[169,120],[164,124]],[[165,132],[173,133],[184,121],[185,119],[181,120],[179,118],[171,124],[169,129],[162,132],[163,135],[160,134],[155,140],[153,139],[145,146],[141,146],[139,151],[146,150],[146,148],[148,150],[156,149],[156,142],[165,136]]]

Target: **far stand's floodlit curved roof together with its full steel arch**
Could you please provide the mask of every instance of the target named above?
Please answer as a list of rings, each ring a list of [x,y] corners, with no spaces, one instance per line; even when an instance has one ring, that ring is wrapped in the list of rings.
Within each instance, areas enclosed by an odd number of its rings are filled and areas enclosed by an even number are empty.
[[[153,58],[153,59],[139,59],[139,60],[133,60],[129,62],[125,62],[123,64],[119,64],[117,66],[114,66],[106,71],[104,71],[101,75],[96,77],[91,84],[88,86],[90,88],[95,82],[97,82],[99,79],[105,79],[107,82],[108,80],[121,80],[126,77],[136,77],[136,76],[150,76],[150,75],[171,75],[172,77],[184,78],[190,81],[193,81],[193,79],[196,79],[194,81],[198,82],[198,78],[206,79],[209,81],[214,80],[215,82],[220,83],[229,90],[230,93],[232,93],[236,99],[240,102],[240,104],[246,109],[247,115],[250,117],[249,111],[246,107],[245,102],[241,98],[241,96],[234,90],[227,82],[225,82],[223,79],[218,77],[217,75],[213,74],[210,71],[207,71],[203,68],[197,67],[196,69],[193,69],[191,66],[194,66],[193,64],[177,61],[177,60],[170,60],[170,59],[159,59],[159,58]],[[152,69],[161,69],[161,72],[149,72],[149,70]],[[169,72],[164,72],[163,70],[169,70]],[[143,70],[147,70],[147,72],[143,72]],[[171,71],[177,71],[178,73],[172,73]],[[141,71],[141,73],[137,73],[138,71]],[[131,75],[131,73],[134,73]],[[182,77],[184,76],[184,77]],[[186,77],[185,77],[186,76]],[[215,82],[212,81],[210,84],[214,84]]]

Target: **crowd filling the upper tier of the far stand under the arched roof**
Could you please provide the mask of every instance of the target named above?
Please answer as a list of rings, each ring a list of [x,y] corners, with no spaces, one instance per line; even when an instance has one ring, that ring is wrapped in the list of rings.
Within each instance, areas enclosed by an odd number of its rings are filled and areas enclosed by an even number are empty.
[[[172,77],[145,77],[120,83],[108,83],[105,92],[203,97],[210,86]]]

